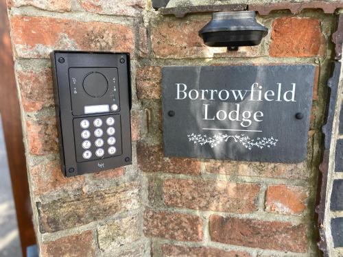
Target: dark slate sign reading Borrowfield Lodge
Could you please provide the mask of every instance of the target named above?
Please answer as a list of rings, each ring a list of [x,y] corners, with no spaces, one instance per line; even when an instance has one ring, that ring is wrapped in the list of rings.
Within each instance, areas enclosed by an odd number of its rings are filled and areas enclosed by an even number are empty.
[[[165,156],[297,163],[316,67],[166,66]]]

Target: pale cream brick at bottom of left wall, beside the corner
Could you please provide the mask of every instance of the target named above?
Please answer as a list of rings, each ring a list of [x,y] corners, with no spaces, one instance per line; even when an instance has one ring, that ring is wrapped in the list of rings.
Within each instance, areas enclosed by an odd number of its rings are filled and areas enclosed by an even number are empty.
[[[99,248],[104,252],[126,247],[139,238],[139,225],[136,216],[117,219],[97,228]]]

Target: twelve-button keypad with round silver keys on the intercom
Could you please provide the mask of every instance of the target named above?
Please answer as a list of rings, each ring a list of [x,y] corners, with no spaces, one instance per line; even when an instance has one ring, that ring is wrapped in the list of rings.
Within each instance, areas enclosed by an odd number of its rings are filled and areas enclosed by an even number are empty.
[[[121,155],[119,114],[74,119],[73,127],[78,162]]]

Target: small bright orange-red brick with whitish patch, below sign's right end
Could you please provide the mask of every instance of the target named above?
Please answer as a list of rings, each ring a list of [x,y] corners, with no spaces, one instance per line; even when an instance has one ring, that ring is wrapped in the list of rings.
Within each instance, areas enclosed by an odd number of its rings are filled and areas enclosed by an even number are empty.
[[[301,186],[284,184],[268,186],[265,197],[265,210],[289,215],[300,215],[305,210],[308,197],[306,189]]]

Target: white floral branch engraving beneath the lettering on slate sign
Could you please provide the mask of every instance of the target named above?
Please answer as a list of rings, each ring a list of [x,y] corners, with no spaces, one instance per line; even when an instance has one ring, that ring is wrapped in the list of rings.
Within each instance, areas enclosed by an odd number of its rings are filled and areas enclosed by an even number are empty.
[[[276,143],[278,142],[278,139],[273,137],[251,139],[244,134],[233,136],[219,133],[215,134],[213,137],[194,133],[188,135],[189,142],[193,142],[194,144],[199,143],[200,145],[209,144],[212,148],[224,141],[227,142],[229,138],[233,138],[235,143],[241,143],[241,145],[244,145],[244,147],[249,150],[253,147],[258,147],[259,149],[263,149],[263,147],[273,147],[276,146]]]

